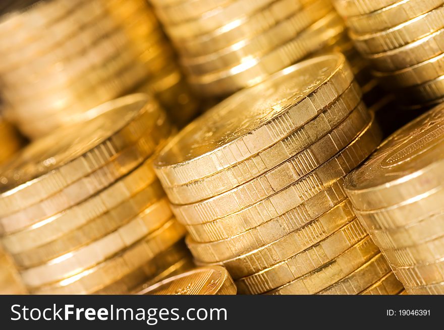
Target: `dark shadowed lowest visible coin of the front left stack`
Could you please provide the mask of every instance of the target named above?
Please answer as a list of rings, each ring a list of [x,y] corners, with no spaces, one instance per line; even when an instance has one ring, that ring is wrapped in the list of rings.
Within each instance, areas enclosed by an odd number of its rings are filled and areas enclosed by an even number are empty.
[[[140,287],[148,282],[152,285],[165,278],[179,275],[192,269],[192,265],[191,256],[181,241],[157,254],[142,267],[95,291],[94,294],[128,294],[140,291],[142,290]]]

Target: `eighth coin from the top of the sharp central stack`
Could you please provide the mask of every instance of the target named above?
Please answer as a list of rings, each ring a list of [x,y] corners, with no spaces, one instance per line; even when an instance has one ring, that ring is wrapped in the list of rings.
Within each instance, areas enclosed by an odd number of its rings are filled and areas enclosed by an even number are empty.
[[[377,246],[367,237],[319,269],[266,294],[316,294],[352,274],[378,252]]]

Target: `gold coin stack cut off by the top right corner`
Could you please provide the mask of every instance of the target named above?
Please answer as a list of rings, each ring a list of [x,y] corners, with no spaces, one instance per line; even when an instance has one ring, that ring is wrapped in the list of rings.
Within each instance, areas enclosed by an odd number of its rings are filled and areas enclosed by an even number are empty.
[[[444,98],[443,0],[333,0],[355,47],[403,102]]]

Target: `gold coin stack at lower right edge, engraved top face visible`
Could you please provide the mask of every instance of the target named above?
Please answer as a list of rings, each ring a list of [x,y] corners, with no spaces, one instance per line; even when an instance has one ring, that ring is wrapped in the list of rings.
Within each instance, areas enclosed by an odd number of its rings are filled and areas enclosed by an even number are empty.
[[[346,179],[361,224],[410,294],[444,294],[444,105],[396,131]]]

